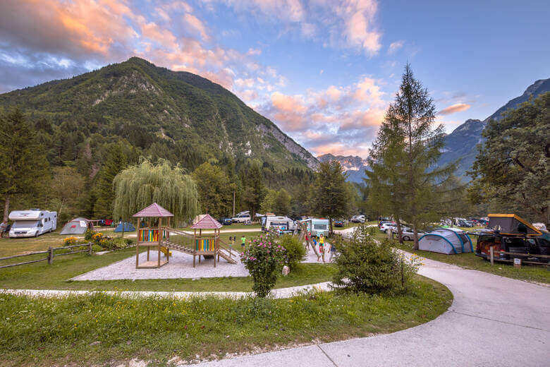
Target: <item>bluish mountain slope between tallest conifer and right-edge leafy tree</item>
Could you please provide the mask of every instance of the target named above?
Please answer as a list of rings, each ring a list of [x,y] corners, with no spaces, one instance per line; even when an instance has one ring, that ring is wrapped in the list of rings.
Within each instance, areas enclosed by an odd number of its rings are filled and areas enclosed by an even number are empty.
[[[536,98],[538,95],[549,91],[550,78],[537,80],[530,85],[525,92],[523,92],[523,95],[508,101],[508,103],[497,109],[496,112],[487,117],[487,119],[484,119],[483,121],[474,119],[466,120],[464,124],[458,126],[458,128],[446,136],[445,148],[439,158],[439,165],[460,160],[456,174],[457,176],[462,176],[464,181],[470,181],[470,177],[466,176],[465,173],[475,162],[475,157],[477,156],[477,144],[482,143],[483,141],[481,134],[487,122],[491,119],[496,119],[496,121],[499,121],[502,119],[503,113],[508,109],[515,109],[523,102],[528,101],[530,97]]]

